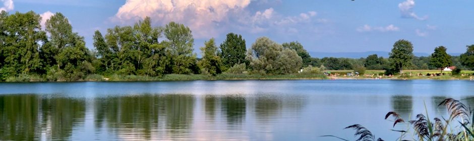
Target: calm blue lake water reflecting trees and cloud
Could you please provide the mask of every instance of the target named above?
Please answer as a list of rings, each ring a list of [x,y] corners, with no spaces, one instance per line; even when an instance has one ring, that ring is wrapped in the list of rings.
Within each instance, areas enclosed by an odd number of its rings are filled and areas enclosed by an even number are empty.
[[[405,120],[446,117],[473,81],[294,80],[0,83],[0,140],[395,140]],[[474,100],[463,100],[474,107]],[[408,136],[411,136],[408,135]]]

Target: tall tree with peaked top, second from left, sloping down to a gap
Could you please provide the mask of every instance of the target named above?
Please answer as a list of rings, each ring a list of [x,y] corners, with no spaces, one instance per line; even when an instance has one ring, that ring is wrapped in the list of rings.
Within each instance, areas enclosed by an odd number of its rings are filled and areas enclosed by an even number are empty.
[[[73,28],[61,13],[55,13],[46,21],[51,48],[49,55],[55,59],[56,66],[50,72],[58,72],[60,80],[81,80],[93,73],[89,49],[85,46],[84,37],[73,32]],[[58,69],[58,70],[56,70]],[[55,74],[52,74],[55,76]]]

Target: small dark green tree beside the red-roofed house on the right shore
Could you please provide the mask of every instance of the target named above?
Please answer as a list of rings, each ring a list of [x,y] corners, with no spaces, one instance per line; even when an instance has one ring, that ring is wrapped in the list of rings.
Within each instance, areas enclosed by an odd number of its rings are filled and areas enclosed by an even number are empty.
[[[441,72],[443,72],[443,68],[446,66],[452,65],[451,55],[446,53],[446,47],[438,46],[435,48],[435,52],[431,54],[430,65],[436,68],[441,68]]]

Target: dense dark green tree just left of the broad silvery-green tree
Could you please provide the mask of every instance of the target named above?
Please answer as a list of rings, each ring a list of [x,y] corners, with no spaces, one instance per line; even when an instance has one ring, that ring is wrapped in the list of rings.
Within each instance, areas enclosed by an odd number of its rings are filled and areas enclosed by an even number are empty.
[[[225,68],[230,68],[235,64],[247,63],[245,39],[242,35],[229,33],[222,44],[220,44],[220,57]]]

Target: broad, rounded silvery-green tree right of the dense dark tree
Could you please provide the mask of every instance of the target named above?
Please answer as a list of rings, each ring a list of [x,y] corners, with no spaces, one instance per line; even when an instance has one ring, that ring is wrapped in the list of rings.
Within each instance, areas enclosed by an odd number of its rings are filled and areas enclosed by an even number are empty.
[[[301,68],[302,59],[295,50],[284,48],[267,37],[258,38],[247,51],[254,73],[289,74]]]

